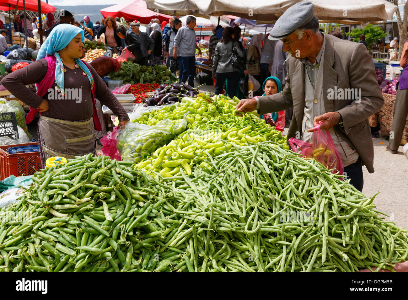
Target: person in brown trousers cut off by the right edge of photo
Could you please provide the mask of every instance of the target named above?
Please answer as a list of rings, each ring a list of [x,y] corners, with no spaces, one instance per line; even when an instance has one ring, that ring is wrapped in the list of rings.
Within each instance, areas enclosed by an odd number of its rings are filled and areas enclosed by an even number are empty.
[[[392,154],[398,153],[401,144],[402,133],[408,114],[408,41],[404,44],[399,65],[404,68],[399,82],[397,83],[397,95],[395,96],[394,113],[392,114],[392,125],[390,131],[390,144],[387,150]]]

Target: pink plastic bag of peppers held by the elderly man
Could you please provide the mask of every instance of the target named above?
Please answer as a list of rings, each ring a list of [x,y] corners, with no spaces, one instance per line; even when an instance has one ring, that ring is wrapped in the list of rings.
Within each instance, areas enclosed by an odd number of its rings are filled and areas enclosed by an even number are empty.
[[[341,161],[339,151],[337,150],[330,133],[326,135],[320,129],[320,123],[313,127],[313,143],[309,144],[295,138],[289,139],[290,148],[293,152],[300,153],[306,158],[314,158],[327,169],[334,169],[331,172],[343,174],[344,166]]]

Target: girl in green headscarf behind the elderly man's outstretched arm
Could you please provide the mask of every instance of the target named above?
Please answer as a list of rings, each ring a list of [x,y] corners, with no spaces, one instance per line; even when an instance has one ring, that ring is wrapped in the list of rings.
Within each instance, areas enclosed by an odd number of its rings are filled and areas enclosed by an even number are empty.
[[[269,76],[262,84],[262,89],[264,90],[264,94],[262,96],[271,96],[282,91],[282,83],[278,78]],[[283,131],[285,128],[285,111],[265,113],[259,117],[264,119],[266,123],[270,124],[271,126],[276,127],[276,129],[279,131]]]

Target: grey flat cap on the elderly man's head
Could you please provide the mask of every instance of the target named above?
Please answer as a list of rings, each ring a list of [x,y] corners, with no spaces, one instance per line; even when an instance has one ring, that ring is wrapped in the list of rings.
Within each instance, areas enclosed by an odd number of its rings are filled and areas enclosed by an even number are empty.
[[[298,2],[289,7],[276,21],[268,39],[280,40],[313,19],[313,3]]]

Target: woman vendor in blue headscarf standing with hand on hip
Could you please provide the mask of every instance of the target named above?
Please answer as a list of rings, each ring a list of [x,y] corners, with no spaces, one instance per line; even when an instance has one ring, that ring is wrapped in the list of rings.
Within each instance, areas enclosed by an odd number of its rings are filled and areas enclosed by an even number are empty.
[[[95,153],[93,130],[101,130],[95,98],[119,118],[122,127],[129,117],[105,82],[88,63],[80,60],[84,31],[60,24],[42,44],[37,60],[1,81],[14,96],[29,105],[26,123],[37,111],[41,162],[53,156],[74,158]],[[26,87],[37,84],[37,94]],[[36,109],[33,109],[36,108]]]

